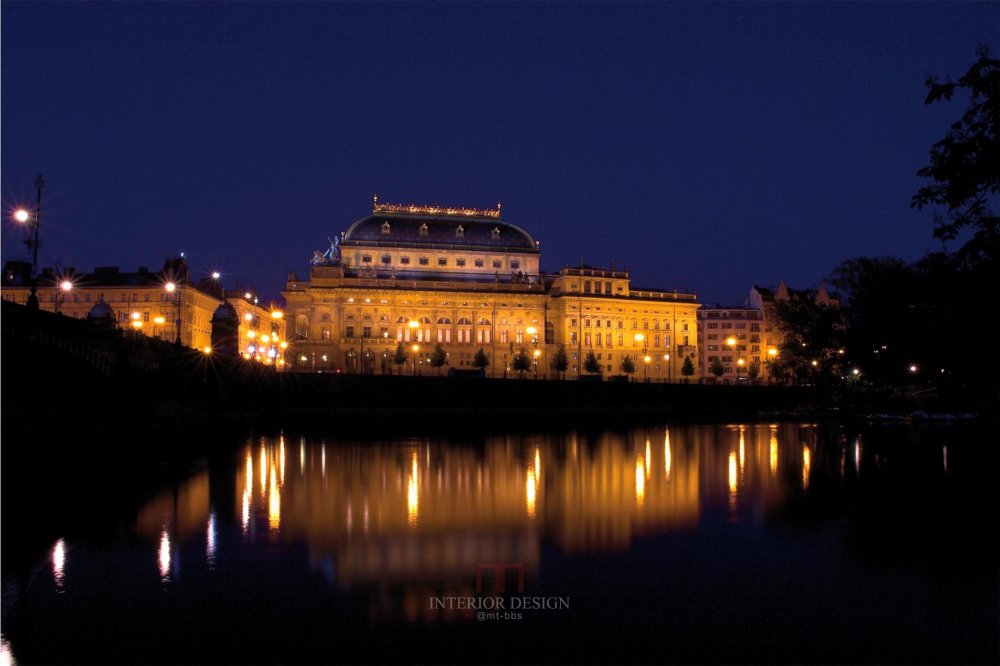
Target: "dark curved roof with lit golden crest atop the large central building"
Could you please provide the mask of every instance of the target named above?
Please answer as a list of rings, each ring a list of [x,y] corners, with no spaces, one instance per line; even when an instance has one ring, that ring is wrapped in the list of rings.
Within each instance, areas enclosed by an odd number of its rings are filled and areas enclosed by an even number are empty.
[[[538,252],[531,234],[501,220],[499,210],[429,206],[376,205],[347,229],[343,245]]]

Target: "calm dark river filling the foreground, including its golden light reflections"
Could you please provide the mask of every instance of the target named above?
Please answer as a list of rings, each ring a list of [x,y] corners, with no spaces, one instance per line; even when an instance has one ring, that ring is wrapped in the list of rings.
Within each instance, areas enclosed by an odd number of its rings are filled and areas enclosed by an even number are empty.
[[[256,438],[5,576],[2,658],[996,662],[996,448],[799,423]]]

